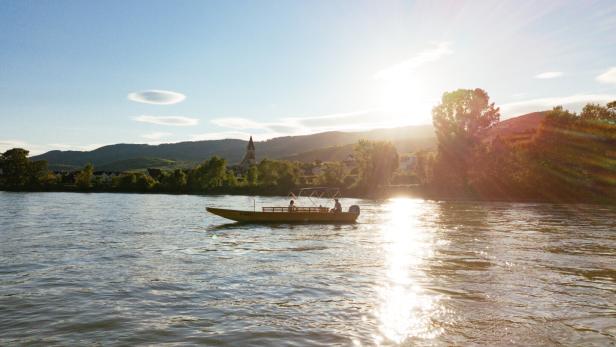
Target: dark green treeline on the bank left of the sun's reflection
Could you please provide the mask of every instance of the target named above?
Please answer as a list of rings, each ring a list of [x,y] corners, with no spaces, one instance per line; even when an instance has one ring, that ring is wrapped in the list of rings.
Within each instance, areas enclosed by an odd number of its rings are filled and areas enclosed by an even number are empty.
[[[0,189],[286,195],[298,187],[330,186],[361,196],[388,184],[398,167],[398,153],[388,142],[360,141],[355,158],[353,167],[340,162],[320,164],[317,175],[306,175],[307,164],[271,159],[239,171],[217,156],[191,169],[95,175],[91,164],[74,173],[53,173],[45,161],[31,161],[27,150],[14,148],[0,155]]]

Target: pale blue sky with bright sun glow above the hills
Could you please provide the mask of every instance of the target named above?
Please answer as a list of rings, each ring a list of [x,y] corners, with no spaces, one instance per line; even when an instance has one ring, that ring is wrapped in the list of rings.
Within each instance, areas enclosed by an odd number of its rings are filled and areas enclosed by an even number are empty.
[[[0,1],[0,151],[509,117],[616,100],[614,1]]]

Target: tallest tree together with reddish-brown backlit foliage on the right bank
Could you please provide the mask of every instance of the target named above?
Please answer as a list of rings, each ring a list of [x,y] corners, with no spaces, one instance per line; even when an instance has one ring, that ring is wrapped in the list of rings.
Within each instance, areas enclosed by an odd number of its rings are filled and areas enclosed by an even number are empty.
[[[616,102],[555,107],[528,137],[489,136],[499,109],[481,90],[433,109],[435,153],[418,155],[425,194],[444,198],[616,203]]]

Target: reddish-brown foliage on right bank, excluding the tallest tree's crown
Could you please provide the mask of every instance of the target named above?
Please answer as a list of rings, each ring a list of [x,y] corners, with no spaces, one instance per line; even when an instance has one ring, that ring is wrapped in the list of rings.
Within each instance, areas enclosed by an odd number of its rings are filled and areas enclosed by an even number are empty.
[[[615,106],[589,104],[580,115],[555,107],[530,141],[515,136],[476,141],[465,150],[472,165],[464,173],[447,151],[439,151],[430,178],[423,174],[430,165],[419,169],[418,156],[418,177],[441,196],[616,202]]]

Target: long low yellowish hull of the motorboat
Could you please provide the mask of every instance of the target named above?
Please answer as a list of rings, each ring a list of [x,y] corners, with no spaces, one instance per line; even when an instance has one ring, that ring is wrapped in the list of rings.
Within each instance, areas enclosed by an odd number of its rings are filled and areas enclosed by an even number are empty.
[[[257,212],[207,207],[217,216],[241,223],[355,223],[359,214],[351,212]]]

